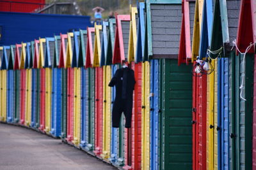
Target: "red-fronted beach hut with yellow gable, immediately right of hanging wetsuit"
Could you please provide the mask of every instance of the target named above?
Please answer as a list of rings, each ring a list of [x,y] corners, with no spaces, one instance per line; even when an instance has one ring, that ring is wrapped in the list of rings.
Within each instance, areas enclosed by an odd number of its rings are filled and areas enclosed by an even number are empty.
[[[141,3],[142,6],[143,3]],[[134,70],[136,84],[132,108],[131,129],[125,129],[125,166],[124,169],[140,169],[141,166],[141,62],[135,63],[137,48],[138,10],[130,6],[129,46],[127,60],[129,67]],[[144,11],[142,13],[144,15]],[[144,21],[143,21],[144,22]],[[145,30],[145,29],[144,29]],[[145,33],[145,32],[144,32]]]

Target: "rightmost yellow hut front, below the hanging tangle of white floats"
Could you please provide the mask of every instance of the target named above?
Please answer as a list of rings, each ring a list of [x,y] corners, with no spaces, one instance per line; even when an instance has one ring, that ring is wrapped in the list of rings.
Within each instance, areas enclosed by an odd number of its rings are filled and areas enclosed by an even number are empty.
[[[215,69],[215,62],[212,61],[212,66]],[[214,72],[207,76],[207,169],[214,169],[214,128],[210,129],[211,125],[214,125]]]

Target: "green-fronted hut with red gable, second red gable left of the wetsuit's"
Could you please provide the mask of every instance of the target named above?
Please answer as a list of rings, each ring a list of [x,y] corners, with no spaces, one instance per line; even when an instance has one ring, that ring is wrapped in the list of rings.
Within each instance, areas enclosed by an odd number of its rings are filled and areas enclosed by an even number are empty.
[[[61,69],[61,138],[67,138],[67,69],[65,69],[67,34],[60,34],[60,57],[56,60],[56,67]]]

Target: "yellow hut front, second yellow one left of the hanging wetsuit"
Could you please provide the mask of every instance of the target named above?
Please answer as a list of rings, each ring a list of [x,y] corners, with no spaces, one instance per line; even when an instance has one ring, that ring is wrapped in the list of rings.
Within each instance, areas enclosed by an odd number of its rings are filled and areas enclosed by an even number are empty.
[[[81,136],[81,68],[74,68],[74,145],[79,146]]]

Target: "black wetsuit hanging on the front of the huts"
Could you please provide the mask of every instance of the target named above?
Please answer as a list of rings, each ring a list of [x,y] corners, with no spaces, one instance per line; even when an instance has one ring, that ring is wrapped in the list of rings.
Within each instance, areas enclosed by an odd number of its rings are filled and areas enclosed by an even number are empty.
[[[135,85],[134,71],[129,67],[116,70],[109,87],[116,87],[116,97],[112,110],[112,127],[119,127],[122,113],[125,115],[125,127],[131,127],[132,93]]]

